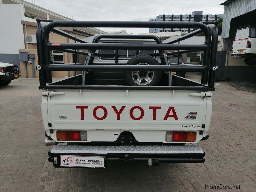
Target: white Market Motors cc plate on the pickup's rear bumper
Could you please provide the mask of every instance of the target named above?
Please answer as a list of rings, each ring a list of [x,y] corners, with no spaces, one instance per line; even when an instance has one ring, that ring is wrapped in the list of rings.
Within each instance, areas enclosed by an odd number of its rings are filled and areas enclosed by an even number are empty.
[[[100,156],[60,156],[61,167],[94,167],[104,168],[105,157]]]

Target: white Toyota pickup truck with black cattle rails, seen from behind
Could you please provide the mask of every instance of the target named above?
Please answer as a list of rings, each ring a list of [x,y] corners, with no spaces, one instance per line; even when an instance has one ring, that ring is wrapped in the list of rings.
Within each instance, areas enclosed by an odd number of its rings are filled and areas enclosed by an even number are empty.
[[[109,161],[204,163],[196,143],[208,138],[218,31],[200,22],[39,20],[36,32],[45,144],[54,167],[104,168]],[[162,44],[154,35],[79,39],[56,27],[175,27],[205,33],[205,44]],[[49,33],[77,43],[51,43]],[[49,50],[87,55],[85,63],[50,64]],[[84,52],[80,50],[90,50]],[[164,50],[177,50],[167,52]],[[180,51],[182,50],[182,51]],[[204,51],[204,65],[173,64],[168,55]],[[82,74],[52,83],[51,71]],[[201,83],[172,75],[201,71]],[[60,143],[63,143],[60,145]]]

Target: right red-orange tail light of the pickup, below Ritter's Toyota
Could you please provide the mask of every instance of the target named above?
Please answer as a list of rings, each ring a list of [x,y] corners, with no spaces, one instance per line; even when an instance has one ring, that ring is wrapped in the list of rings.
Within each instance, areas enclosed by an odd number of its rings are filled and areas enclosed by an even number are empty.
[[[171,132],[165,134],[166,141],[196,141],[196,132]]]

